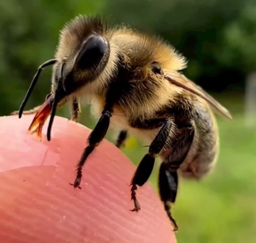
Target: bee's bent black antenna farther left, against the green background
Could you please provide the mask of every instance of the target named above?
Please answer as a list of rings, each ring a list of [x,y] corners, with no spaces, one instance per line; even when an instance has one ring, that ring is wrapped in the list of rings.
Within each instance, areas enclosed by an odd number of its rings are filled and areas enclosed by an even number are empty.
[[[32,81],[31,81],[31,83],[30,83],[30,86],[29,86],[28,91],[27,91],[27,93],[26,93],[26,95],[25,95],[25,98],[24,98],[24,100],[22,101],[22,103],[21,103],[21,105],[20,105],[20,107],[19,107],[19,118],[21,118],[21,116],[22,116],[22,113],[23,113],[23,111],[24,111],[24,108],[25,108],[25,106],[26,106],[26,104],[27,104],[27,102],[28,102],[29,96],[30,96],[30,94],[32,93],[32,91],[33,91],[33,89],[34,89],[34,86],[36,86],[36,83],[37,83],[38,78],[39,78],[39,76],[40,76],[40,74],[41,74],[41,71],[42,71],[45,67],[50,66],[50,65],[53,65],[53,64],[55,64],[56,62],[57,62],[57,59],[50,59],[50,60],[46,61],[45,63],[43,63],[42,65],[39,66],[39,68],[38,68],[36,74],[34,75]]]

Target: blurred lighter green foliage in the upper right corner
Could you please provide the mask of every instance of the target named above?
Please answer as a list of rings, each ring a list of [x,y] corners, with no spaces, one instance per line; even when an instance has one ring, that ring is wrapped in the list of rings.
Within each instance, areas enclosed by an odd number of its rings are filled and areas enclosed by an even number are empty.
[[[256,2],[249,2],[223,29],[218,60],[250,72],[256,70]]]

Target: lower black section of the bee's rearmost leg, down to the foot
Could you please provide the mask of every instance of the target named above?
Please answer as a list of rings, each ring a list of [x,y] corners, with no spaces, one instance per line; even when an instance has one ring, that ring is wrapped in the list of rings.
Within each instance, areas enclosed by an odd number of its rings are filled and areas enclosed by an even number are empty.
[[[165,206],[165,211],[173,225],[173,230],[178,230],[178,225],[171,215],[170,203],[174,203],[178,190],[178,166],[168,168],[166,163],[161,163],[159,170],[159,192],[160,198]]]

